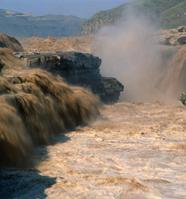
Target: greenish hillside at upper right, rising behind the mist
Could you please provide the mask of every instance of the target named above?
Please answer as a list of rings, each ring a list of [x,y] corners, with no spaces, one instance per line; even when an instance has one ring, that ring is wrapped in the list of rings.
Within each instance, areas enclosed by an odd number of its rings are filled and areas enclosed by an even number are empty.
[[[159,21],[163,28],[186,25],[186,0],[135,0],[119,7],[95,14],[82,26],[82,34],[98,31],[102,26],[115,23],[134,8]]]

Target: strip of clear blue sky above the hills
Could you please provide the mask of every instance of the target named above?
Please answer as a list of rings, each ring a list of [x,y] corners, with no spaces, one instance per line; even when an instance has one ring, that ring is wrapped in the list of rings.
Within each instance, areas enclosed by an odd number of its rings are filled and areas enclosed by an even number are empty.
[[[127,0],[0,0],[1,9],[43,14],[64,14],[90,17],[99,10],[109,9]]]

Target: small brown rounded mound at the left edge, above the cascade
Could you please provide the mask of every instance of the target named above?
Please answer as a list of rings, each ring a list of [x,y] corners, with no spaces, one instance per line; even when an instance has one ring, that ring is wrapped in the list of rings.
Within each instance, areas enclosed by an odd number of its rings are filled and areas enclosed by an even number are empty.
[[[9,48],[14,52],[22,52],[23,47],[17,39],[0,33],[0,48]]]

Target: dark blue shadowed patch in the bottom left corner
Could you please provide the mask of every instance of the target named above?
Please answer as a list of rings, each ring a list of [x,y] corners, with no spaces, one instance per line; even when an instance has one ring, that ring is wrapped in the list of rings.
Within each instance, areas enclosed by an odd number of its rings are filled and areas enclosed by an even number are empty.
[[[44,199],[45,189],[55,183],[55,178],[41,176],[35,170],[0,170],[0,198]]]

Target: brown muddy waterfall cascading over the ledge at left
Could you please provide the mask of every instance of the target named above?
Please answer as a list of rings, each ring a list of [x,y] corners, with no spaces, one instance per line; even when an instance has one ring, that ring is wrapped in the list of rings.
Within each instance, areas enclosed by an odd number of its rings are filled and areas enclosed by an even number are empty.
[[[36,146],[99,114],[91,92],[42,70],[0,77],[0,166],[24,166]]]

